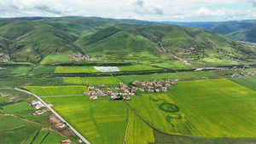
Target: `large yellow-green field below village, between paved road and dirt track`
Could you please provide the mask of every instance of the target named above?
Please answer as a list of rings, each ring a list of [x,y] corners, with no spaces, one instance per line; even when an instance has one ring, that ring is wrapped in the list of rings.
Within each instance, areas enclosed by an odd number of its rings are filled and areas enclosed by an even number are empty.
[[[69,124],[91,143],[122,143],[127,124],[124,101],[110,101],[106,97],[90,101],[89,96],[42,97],[53,104]]]

